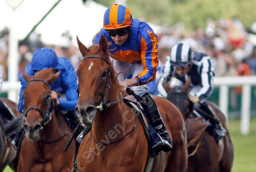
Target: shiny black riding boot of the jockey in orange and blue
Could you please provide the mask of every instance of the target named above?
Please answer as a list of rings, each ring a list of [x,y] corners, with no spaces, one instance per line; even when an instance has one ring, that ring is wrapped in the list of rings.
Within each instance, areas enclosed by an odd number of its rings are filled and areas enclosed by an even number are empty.
[[[165,129],[165,124],[161,118],[157,105],[154,99],[149,95],[149,93],[145,93],[141,96],[143,101],[140,102],[140,105],[144,108],[145,113],[150,120],[151,125],[154,127],[155,131],[159,135],[159,140],[157,143],[153,145],[151,150],[153,151],[165,151],[169,152],[172,150],[172,146],[169,144],[168,133]]]

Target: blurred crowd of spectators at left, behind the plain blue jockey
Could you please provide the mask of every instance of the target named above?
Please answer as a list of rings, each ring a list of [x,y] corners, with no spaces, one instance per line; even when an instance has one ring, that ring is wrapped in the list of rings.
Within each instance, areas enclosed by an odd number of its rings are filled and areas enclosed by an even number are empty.
[[[0,32],[0,65],[3,69],[3,80],[8,80],[8,36],[9,29],[5,28]],[[57,56],[65,57],[71,61],[75,70],[78,68],[80,63],[81,53],[76,46],[73,46],[72,37],[69,31],[62,34],[61,43],[59,45],[47,45],[41,40],[41,35],[32,32],[28,39],[19,41],[19,63],[18,63],[18,80],[22,75],[22,70],[25,69],[27,64],[30,62],[33,52],[38,48],[47,47],[53,49]]]

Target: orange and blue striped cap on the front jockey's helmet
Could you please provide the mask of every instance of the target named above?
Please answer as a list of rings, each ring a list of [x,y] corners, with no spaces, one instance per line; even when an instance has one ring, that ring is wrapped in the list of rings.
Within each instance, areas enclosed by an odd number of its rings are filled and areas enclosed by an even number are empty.
[[[105,11],[103,29],[120,29],[131,26],[132,22],[130,10],[123,5],[115,4]]]

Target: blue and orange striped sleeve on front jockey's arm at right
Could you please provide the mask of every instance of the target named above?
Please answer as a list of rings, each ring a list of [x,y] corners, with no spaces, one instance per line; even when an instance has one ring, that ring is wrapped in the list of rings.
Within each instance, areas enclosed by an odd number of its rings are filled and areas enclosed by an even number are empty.
[[[140,54],[143,64],[143,71],[135,77],[138,85],[144,85],[155,79],[158,66],[157,36],[149,29],[142,29],[140,41]]]

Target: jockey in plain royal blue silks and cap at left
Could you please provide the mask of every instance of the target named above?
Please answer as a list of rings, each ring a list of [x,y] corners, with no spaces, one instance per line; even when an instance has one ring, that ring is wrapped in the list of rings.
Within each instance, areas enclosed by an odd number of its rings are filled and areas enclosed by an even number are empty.
[[[31,62],[27,64],[25,71],[29,76],[34,76],[37,71],[49,68],[55,69],[55,73],[61,71],[55,82],[50,84],[51,97],[56,100],[55,103],[57,103],[60,112],[69,119],[71,128],[74,130],[78,124],[74,114],[74,109],[78,101],[78,95],[76,93],[78,83],[76,72],[71,62],[64,57],[57,57],[55,51],[52,49],[41,48],[34,52]],[[27,83],[23,76],[20,77],[20,82],[21,88],[18,109],[20,113],[22,113],[24,109],[22,94]],[[60,95],[59,97],[57,93]],[[18,141],[19,138],[16,138],[16,143],[14,143],[16,146],[18,145]]]

